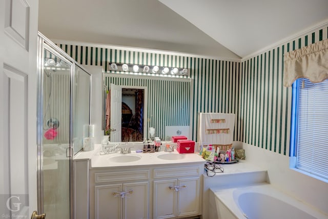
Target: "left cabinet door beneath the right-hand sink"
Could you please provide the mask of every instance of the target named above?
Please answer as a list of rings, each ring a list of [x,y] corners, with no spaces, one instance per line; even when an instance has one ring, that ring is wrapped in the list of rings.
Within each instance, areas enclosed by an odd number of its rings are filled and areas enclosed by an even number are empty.
[[[176,180],[154,181],[154,218],[169,218],[176,215],[177,192],[170,189],[170,186],[176,185]]]

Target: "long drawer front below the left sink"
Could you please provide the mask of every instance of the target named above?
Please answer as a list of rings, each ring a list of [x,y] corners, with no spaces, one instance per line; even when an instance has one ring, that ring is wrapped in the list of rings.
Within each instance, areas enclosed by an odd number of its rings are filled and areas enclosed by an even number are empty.
[[[149,170],[95,173],[95,183],[148,180]]]

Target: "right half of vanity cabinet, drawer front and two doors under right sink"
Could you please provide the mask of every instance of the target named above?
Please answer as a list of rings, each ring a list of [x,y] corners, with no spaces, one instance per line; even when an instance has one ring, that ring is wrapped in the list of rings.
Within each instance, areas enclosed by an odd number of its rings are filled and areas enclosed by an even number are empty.
[[[201,213],[199,172],[199,166],[154,169],[153,217],[199,215]]]

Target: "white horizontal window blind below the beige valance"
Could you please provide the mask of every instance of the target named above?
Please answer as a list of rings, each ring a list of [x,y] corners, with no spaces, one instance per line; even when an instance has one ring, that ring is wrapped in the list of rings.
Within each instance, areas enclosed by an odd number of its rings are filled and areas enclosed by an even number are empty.
[[[296,168],[328,179],[328,79],[297,79]]]

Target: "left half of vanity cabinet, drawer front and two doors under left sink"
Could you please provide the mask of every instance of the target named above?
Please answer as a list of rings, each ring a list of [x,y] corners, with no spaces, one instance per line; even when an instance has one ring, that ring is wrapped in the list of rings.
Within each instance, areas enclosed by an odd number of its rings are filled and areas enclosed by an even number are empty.
[[[95,172],[90,218],[149,218],[148,176],[148,170]]]

